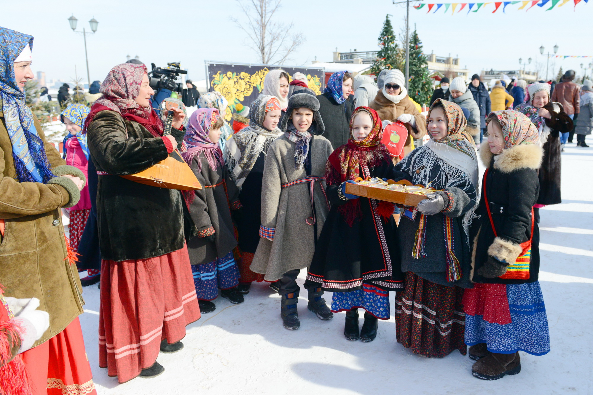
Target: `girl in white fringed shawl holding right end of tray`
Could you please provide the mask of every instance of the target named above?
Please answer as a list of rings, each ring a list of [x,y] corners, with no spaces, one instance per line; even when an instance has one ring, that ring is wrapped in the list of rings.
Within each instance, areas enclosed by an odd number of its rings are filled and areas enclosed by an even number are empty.
[[[413,353],[466,354],[463,288],[471,288],[469,225],[477,202],[477,156],[461,107],[437,99],[431,140],[396,165],[413,184],[438,189],[404,210],[398,227],[406,288],[396,295],[397,342]]]

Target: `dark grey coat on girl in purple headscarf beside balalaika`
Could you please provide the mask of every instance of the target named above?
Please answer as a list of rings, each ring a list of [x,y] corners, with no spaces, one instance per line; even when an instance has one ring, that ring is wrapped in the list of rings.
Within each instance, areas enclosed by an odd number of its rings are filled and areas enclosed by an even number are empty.
[[[197,161],[201,161],[201,170]],[[218,164],[216,170],[212,170],[200,153],[193,157],[190,167],[202,189],[195,191],[195,198],[189,203],[189,213],[198,234],[190,238],[187,252],[192,265],[202,265],[224,257],[237,246],[231,210],[241,208],[241,202],[239,189],[225,165]],[[205,238],[212,234],[214,241]]]

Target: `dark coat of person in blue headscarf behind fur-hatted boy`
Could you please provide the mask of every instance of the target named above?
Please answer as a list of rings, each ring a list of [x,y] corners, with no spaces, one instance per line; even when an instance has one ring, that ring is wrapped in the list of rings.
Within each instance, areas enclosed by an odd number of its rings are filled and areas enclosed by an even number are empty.
[[[350,100],[337,104],[329,93],[316,97],[319,100],[319,113],[326,127],[323,136],[331,142],[333,147],[346,144],[350,138],[350,117],[354,112],[354,104]]]

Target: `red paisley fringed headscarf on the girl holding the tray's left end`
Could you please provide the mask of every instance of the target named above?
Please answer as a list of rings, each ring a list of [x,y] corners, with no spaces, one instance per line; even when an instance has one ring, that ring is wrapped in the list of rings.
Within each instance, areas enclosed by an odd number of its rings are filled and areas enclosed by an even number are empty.
[[[365,112],[371,116],[372,129],[363,141],[357,141],[352,135],[352,123],[354,117]],[[354,180],[356,177],[363,177],[360,174],[361,168],[377,167],[385,162],[390,162],[391,157],[387,147],[381,142],[383,128],[379,114],[370,107],[357,107],[350,118],[350,139],[332,152],[327,160],[326,183],[327,185],[341,184],[347,180]],[[345,217],[348,225],[352,226],[356,219],[361,218],[360,199],[351,199],[345,205],[338,208],[340,214]],[[393,203],[381,201],[378,206],[379,214],[388,217],[393,213]]]

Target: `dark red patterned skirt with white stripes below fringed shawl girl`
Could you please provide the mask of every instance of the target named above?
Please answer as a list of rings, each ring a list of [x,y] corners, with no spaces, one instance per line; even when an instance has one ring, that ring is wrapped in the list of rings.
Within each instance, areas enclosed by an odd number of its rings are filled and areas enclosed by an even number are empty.
[[[413,353],[441,358],[453,350],[466,355],[463,288],[445,286],[406,273],[406,288],[396,293],[396,338]]]

